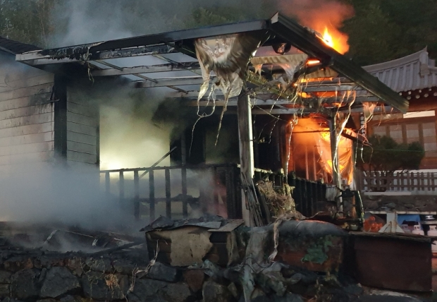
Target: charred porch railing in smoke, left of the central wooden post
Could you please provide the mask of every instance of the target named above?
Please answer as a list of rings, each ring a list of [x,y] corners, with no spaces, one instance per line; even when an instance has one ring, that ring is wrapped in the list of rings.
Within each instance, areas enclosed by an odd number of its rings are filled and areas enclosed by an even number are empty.
[[[242,215],[240,169],[236,164],[116,169],[100,171],[100,174],[104,176],[105,192],[118,197],[121,205],[133,205],[136,219],[144,216],[148,216],[150,220],[155,219],[156,206],[164,204],[165,213],[162,209],[159,214],[166,217],[176,215],[180,216],[177,218],[186,218],[189,214],[188,205],[196,205],[200,207],[199,211],[207,212],[199,204],[199,198],[202,194],[208,195],[214,203],[218,203],[220,194],[214,191],[214,186],[220,186],[221,195],[226,196],[228,218],[238,219]],[[187,174],[197,174],[197,177],[193,176],[190,181]],[[206,180],[214,183],[202,183]],[[196,191],[199,196],[190,195],[190,191]],[[177,210],[174,209],[176,206]]]

